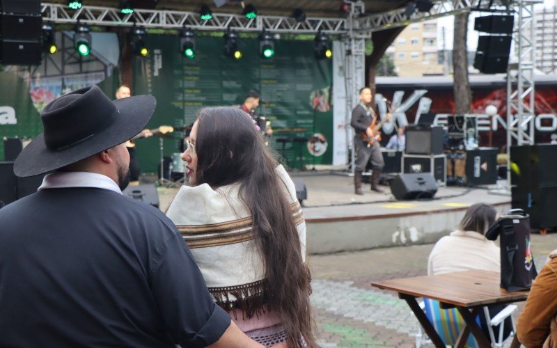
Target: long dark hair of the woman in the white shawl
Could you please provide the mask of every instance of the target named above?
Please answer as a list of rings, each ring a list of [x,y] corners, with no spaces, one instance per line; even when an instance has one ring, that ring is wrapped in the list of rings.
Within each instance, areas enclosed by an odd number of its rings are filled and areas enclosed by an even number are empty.
[[[210,107],[199,111],[196,184],[240,184],[240,199],[253,216],[255,242],[265,260],[267,306],[277,310],[291,347],[317,347],[309,294],[309,270],[278,165],[253,120],[244,111]]]

